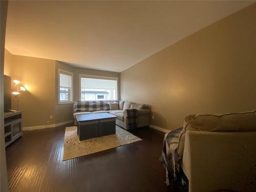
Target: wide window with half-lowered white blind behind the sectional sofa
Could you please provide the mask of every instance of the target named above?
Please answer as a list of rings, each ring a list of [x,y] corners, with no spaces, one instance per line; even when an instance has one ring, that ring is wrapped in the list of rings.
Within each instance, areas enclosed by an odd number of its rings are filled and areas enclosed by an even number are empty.
[[[117,100],[117,78],[80,75],[82,101]]]

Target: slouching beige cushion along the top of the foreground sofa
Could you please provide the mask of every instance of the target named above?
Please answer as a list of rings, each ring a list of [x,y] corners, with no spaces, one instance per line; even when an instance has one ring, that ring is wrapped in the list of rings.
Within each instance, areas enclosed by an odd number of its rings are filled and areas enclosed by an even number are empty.
[[[179,137],[178,153],[183,155],[186,131],[255,132],[256,111],[217,115],[188,115]]]

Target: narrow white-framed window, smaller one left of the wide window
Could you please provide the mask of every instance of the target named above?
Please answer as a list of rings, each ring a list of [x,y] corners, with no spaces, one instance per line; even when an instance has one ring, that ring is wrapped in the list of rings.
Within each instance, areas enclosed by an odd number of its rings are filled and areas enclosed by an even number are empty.
[[[73,103],[73,73],[58,70],[59,104]]]

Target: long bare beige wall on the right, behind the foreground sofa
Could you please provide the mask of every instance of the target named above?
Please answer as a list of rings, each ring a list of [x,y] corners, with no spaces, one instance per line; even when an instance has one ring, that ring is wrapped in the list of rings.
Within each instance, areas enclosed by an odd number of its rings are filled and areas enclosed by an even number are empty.
[[[121,73],[121,99],[152,105],[172,130],[188,114],[256,109],[256,4]]]

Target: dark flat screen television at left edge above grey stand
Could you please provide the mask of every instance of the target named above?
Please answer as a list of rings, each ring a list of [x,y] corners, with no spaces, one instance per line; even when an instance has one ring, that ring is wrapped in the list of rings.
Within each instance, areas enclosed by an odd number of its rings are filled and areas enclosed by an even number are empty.
[[[12,109],[12,78],[4,75],[4,108],[5,111]]]

